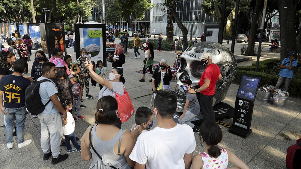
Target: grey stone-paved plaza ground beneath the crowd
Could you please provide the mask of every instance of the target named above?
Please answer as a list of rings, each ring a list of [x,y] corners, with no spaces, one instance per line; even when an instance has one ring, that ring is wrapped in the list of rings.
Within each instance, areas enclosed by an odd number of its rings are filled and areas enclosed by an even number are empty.
[[[224,45],[231,48],[231,43]],[[235,43],[234,55],[237,58],[244,58],[240,56],[239,47],[240,44]],[[261,59],[268,58],[280,58],[280,53],[267,53],[268,46],[263,45],[264,49],[262,52]],[[143,66],[143,57],[141,59],[133,59],[134,52],[132,49],[128,50],[129,53],[126,55],[126,63],[123,65],[124,77],[126,80],[125,88],[129,93],[135,110],[140,106],[149,107],[151,96],[152,96],[152,85],[148,80],[150,76],[145,76],[145,82],[139,82],[142,74],[136,73],[141,70]],[[141,54],[144,54],[140,50]],[[33,51],[34,53],[35,51]],[[67,49],[67,53],[73,53],[73,48]],[[76,56],[71,55],[73,60]],[[160,53],[155,52],[155,62],[160,62],[161,59],[166,58],[168,64],[172,65],[176,56],[173,51],[162,51]],[[29,67],[31,68],[34,59],[34,54],[31,56],[31,62]],[[252,57],[252,60],[239,62],[238,66],[247,66],[251,63],[256,62],[256,57]],[[111,70],[111,63],[108,63],[107,68]],[[274,84],[275,85],[275,84]],[[176,83],[171,83],[171,90],[175,90]],[[234,107],[235,97],[237,94],[239,85],[231,84],[230,89],[227,93],[226,98],[223,102],[228,103]],[[85,130],[89,125],[95,122],[96,113],[96,102],[98,100],[98,86],[91,86],[90,83],[90,95],[93,99],[86,99],[85,94],[83,96],[86,108],[81,109],[84,120],[78,119],[75,122],[75,136],[81,138]],[[219,143],[220,147],[228,148],[239,158],[241,158],[247,165],[252,169],[278,169],[285,167],[285,157],[287,147],[295,144],[295,140],[301,137],[301,100],[298,98],[289,97],[285,107],[275,107],[272,103],[263,103],[255,100],[253,119],[251,129],[253,132],[246,138],[238,137],[228,132],[228,128],[221,126],[223,132],[222,142]],[[232,125],[232,119],[224,119],[226,124]],[[135,123],[134,117],[131,117],[127,122],[122,124],[122,128],[130,130],[132,125]],[[154,118],[154,126],[157,126],[157,119]],[[21,149],[17,148],[16,137],[14,137],[14,147],[7,149],[6,137],[5,137],[5,126],[3,123],[3,116],[0,116],[0,168],[88,168],[92,162],[82,161],[79,152],[73,152],[69,154],[69,158],[59,164],[52,165],[51,158],[44,161],[43,152],[40,145],[40,122],[38,118],[33,118],[32,115],[27,115],[25,121],[25,140],[32,139],[33,142]],[[204,149],[200,144],[199,134],[195,134],[197,142],[196,149],[193,154],[202,152]],[[80,143],[80,141],[78,141]],[[61,147],[61,154],[66,154],[66,147]],[[232,165],[230,164],[229,167]]]

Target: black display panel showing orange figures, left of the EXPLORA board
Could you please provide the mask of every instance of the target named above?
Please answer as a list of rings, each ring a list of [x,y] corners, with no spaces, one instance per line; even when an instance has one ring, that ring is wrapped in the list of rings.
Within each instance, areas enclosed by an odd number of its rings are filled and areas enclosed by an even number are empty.
[[[52,56],[52,50],[57,47],[61,48],[63,53],[67,55],[65,30],[62,23],[40,23],[40,34],[42,49],[47,53],[49,58]],[[46,33],[47,32],[47,33]]]

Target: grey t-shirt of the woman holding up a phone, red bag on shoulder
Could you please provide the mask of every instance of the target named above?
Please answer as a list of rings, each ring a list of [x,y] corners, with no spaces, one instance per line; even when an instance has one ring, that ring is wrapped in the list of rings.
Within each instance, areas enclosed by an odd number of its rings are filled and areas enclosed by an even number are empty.
[[[112,83],[113,90],[104,86],[98,94],[98,99],[102,98],[103,96],[112,96],[113,98],[115,98],[115,93],[118,93],[121,96],[124,94],[124,88],[123,88],[124,86],[122,82],[111,82],[111,83]]]

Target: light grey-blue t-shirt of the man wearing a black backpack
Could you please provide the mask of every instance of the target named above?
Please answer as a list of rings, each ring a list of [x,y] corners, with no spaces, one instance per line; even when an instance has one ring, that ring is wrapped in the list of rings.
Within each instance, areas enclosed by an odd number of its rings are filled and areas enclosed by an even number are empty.
[[[37,80],[43,80],[43,79],[47,79],[50,80],[51,82],[43,82],[40,84],[40,89],[39,89],[39,93],[41,96],[41,100],[42,103],[45,105],[50,97],[56,93],[58,93],[57,91],[57,86],[54,84],[54,82],[51,79],[48,79],[46,77],[39,77]],[[53,105],[52,101],[50,101],[47,106],[45,107],[45,110],[40,113],[41,115],[50,115],[50,114],[54,114],[54,113],[58,113],[59,111],[55,108],[55,106]]]

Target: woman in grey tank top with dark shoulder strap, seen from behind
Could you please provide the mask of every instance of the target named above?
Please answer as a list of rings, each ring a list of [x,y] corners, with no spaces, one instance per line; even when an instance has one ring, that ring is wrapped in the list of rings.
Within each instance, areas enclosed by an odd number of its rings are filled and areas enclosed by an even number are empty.
[[[102,97],[97,102],[97,110],[96,125],[88,127],[82,136],[82,159],[88,161],[92,158],[90,168],[95,169],[130,169],[134,167],[135,161],[132,161],[129,155],[135,146],[133,137],[137,133],[131,134],[129,131],[115,126],[118,117],[116,99],[112,96]]]

